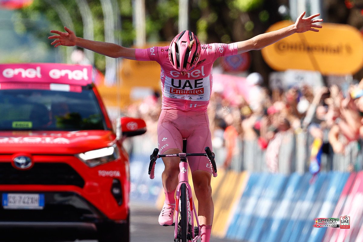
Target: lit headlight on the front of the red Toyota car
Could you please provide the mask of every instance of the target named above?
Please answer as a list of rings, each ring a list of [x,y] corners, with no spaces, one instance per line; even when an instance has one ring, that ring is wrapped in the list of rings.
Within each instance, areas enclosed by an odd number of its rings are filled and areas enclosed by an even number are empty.
[[[95,167],[116,160],[120,154],[117,146],[113,145],[102,149],[79,153],[76,156],[89,167]]]

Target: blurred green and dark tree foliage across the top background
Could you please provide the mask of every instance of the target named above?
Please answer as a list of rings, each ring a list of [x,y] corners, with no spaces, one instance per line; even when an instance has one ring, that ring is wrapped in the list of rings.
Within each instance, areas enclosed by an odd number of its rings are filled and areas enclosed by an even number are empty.
[[[74,24],[77,36],[83,37],[83,23],[75,0],[34,0],[28,8],[19,11],[16,20],[16,30],[20,32],[33,32],[40,41],[50,41],[49,26],[38,24],[38,19],[45,18],[50,22],[52,29],[63,29],[55,9],[49,3],[60,3],[65,6]],[[135,29],[132,23],[132,1],[117,0],[120,12],[121,26],[118,37],[123,46],[130,47],[135,40]],[[91,8],[94,21],[94,38],[104,41],[103,12],[99,0],[87,0]],[[178,0],[146,0],[146,35],[149,42],[170,41],[178,33]],[[202,43],[235,42],[246,40],[257,34],[264,33],[275,22],[289,19],[281,16],[278,7],[286,5],[289,0],[189,0],[189,30],[197,34]],[[360,11],[347,9],[344,1],[329,0],[325,4],[325,22],[348,23],[355,15],[361,21],[354,22],[354,26],[363,25]],[[354,19],[358,19],[355,17]],[[65,49],[65,48],[63,48]],[[64,51],[64,50],[63,50]],[[252,51],[252,65],[249,71],[258,71],[267,78],[272,71],[262,60],[260,51]],[[105,57],[96,54],[95,65],[101,71],[105,69]]]

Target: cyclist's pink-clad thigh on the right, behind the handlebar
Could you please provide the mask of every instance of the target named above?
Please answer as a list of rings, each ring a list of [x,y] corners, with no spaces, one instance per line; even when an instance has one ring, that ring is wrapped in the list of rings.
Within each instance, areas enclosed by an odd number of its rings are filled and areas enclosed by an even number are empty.
[[[198,112],[189,120],[191,133],[187,139],[188,153],[204,153],[204,148],[212,149],[212,135],[209,130],[209,120],[206,112]],[[196,170],[212,173],[209,159],[206,156],[189,156],[189,167],[191,172]]]

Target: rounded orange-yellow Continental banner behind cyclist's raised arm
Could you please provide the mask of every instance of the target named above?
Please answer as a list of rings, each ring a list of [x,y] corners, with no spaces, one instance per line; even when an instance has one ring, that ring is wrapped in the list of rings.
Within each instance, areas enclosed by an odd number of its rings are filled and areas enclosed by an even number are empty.
[[[280,21],[266,32],[293,24]],[[277,71],[301,69],[324,75],[354,74],[363,66],[363,37],[345,24],[322,24],[319,32],[308,31],[286,37],[262,49],[265,62]]]

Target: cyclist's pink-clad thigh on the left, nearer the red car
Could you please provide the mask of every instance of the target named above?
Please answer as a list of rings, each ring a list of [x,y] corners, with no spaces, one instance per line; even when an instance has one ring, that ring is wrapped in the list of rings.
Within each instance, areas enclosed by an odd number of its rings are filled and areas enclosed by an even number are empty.
[[[183,139],[179,131],[179,125],[175,120],[178,120],[178,116],[174,110],[161,111],[158,123],[158,148],[160,154],[168,149],[179,149],[181,151],[183,148]]]

